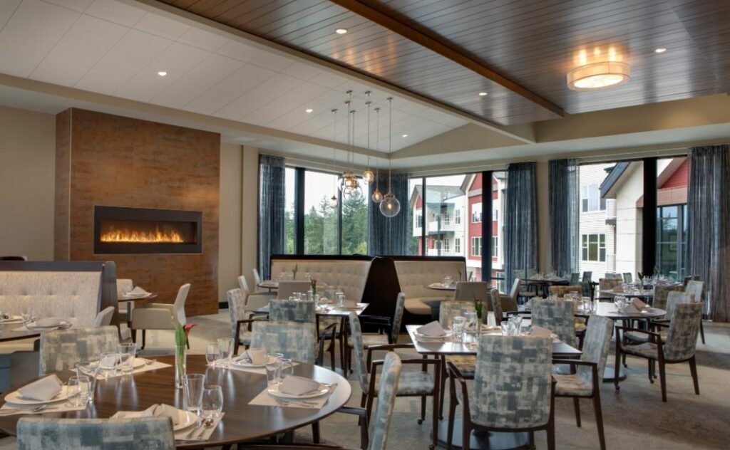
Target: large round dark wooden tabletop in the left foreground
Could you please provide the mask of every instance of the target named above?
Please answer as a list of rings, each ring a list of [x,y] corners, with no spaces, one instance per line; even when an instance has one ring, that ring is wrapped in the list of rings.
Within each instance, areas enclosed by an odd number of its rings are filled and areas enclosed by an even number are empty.
[[[135,373],[99,380],[94,401],[85,411],[48,412],[45,417],[71,419],[105,419],[117,411],[142,411],[155,403],[166,403],[183,408],[183,391],[174,388],[174,357],[160,357],[159,362],[171,366],[156,371]],[[306,376],[323,383],[337,383],[321,409],[285,408],[281,406],[252,406],[248,403],[266,387],[266,375],[207,368],[205,355],[188,355],[188,373],[205,373],[206,384],[218,384],[223,389],[223,416],[208,441],[176,441],[178,449],[201,446],[223,446],[232,443],[255,441],[280,432],[294,430],[317,422],[344,406],[352,389],[350,383],[337,373],[316,365],[298,364],[294,374]],[[70,371],[58,373],[66,381],[74,375]],[[4,401],[7,392],[0,397]],[[18,419],[23,415],[1,416],[0,430],[15,435]]]

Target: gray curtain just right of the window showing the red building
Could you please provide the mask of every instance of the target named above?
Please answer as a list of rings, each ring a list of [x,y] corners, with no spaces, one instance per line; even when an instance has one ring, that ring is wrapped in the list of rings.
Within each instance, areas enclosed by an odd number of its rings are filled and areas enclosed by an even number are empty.
[[[537,191],[535,163],[507,166],[504,194],[504,281],[512,284],[514,271],[531,274],[537,268]]]

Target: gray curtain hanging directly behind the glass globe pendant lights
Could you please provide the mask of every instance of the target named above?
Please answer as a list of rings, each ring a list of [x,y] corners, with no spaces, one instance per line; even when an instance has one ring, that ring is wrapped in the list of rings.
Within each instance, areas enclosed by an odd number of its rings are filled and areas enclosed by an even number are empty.
[[[380,214],[380,204],[370,201],[368,212],[369,255],[407,255],[410,230],[408,229],[408,174],[393,174],[391,190],[401,202],[401,212],[396,217],[385,217]],[[379,174],[380,192],[388,192],[388,174]],[[372,196],[375,183],[371,183],[369,195]]]

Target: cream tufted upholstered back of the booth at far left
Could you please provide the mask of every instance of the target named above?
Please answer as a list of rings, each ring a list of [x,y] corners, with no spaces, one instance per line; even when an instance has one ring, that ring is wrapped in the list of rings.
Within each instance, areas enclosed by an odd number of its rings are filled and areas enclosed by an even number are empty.
[[[35,316],[91,327],[101,305],[101,272],[0,271],[0,310],[20,314],[25,302],[33,302]]]

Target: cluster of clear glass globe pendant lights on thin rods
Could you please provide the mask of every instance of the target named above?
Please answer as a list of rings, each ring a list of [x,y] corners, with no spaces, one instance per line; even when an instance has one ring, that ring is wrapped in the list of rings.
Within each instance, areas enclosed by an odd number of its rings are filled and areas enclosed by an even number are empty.
[[[367,150],[370,150],[370,106],[372,106],[372,102],[369,100],[370,98],[370,91],[366,91],[365,95],[367,96],[368,100],[365,102],[365,106],[367,107]],[[356,110],[353,109],[353,91],[348,90],[347,91],[347,101],[345,101],[345,106],[347,109],[347,166],[353,167],[355,164],[355,117],[356,117]],[[389,125],[388,125],[388,133],[391,136],[388,136],[388,154],[390,155],[390,152],[393,150],[393,98],[388,97],[388,105],[389,105]],[[334,131],[334,138],[337,139],[337,130],[336,130],[336,124],[337,124],[337,109],[332,109],[333,113],[333,120],[334,124],[332,126]],[[375,108],[375,114],[377,116],[377,138],[376,140],[380,141],[380,108]],[[333,140],[334,141],[334,140]],[[333,166],[337,165],[337,158],[336,158],[336,152],[337,150],[333,147],[332,148],[332,164]],[[346,166],[346,167],[347,167]],[[345,168],[345,171],[342,171],[342,174],[337,179],[337,189],[342,193],[342,196],[344,198],[353,198],[358,195],[362,195],[363,188],[362,185],[369,186],[372,185],[372,183],[375,183],[375,189],[372,193],[371,199],[374,203],[379,204],[380,212],[385,217],[395,217],[399,214],[401,211],[401,203],[396,198],[396,195],[393,194],[391,190],[391,161],[390,158],[388,158],[388,193],[383,195],[382,192],[380,192],[380,176],[379,170],[377,167],[377,164],[375,166],[375,172],[373,173],[372,169],[370,168],[370,155],[368,154],[367,157],[367,168],[365,171],[363,171],[363,174],[361,178],[358,178],[355,176],[355,172],[351,168]],[[332,195],[332,198],[329,201],[329,204],[332,208],[337,207],[337,193],[334,193]]]

